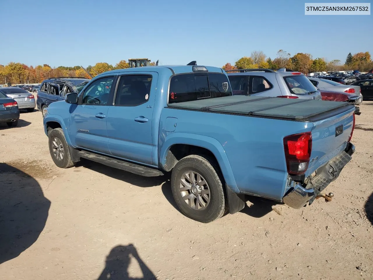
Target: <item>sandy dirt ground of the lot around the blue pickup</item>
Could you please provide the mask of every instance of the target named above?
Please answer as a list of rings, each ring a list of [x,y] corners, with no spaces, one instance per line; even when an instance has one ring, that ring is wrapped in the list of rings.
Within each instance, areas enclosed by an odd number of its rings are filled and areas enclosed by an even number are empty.
[[[332,202],[248,197],[210,224],[176,208],[168,178],[94,162],[57,168],[41,113],[0,125],[0,279],[373,279],[373,102]]]

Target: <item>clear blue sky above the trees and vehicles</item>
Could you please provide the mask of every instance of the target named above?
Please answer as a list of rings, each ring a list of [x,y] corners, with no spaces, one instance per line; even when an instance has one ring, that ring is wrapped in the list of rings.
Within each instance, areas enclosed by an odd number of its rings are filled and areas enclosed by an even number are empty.
[[[0,64],[114,65],[147,57],[221,67],[253,50],[272,59],[284,49],[342,62],[349,52],[373,55],[373,13],[305,16],[304,2],[1,0]]]

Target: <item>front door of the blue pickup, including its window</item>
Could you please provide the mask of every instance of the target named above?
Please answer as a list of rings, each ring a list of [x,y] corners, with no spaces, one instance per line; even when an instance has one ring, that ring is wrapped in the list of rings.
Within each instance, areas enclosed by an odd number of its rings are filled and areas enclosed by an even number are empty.
[[[92,81],[79,95],[78,105],[72,106],[70,135],[75,146],[110,155],[106,121],[114,79],[109,76]]]

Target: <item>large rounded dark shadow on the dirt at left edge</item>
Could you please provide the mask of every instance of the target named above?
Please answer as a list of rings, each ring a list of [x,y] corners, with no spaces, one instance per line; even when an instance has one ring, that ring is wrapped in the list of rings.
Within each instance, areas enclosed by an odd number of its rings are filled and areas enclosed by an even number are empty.
[[[39,183],[0,163],[0,264],[29,248],[43,230],[50,207]]]

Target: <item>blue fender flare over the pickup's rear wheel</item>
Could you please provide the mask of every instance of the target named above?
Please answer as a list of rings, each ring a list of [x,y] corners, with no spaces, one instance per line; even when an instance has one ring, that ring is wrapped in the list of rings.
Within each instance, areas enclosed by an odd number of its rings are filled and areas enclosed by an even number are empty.
[[[236,180],[233,176],[231,164],[229,163],[228,157],[222,144],[219,143],[215,138],[191,134],[191,133],[171,133],[166,136],[165,141],[162,144],[159,153],[159,164],[164,168],[166,163],[166,156],[170,147],[174,144],[186,144],[197,147],[202,147],[213,153],[222,171],[226,186],[234,193],[239,193],[239,189],[236,184]]]

